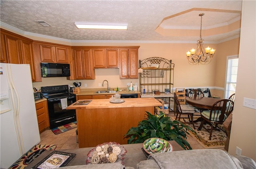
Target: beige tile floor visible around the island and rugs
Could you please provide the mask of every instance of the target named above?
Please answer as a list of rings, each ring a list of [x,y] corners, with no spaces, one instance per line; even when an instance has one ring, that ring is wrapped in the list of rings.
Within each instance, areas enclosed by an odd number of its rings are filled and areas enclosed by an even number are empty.
[[[174,117],[174,113],[170,112],[168,116]],[[52,130],[46,130],[40,134],[40,138],[41,141],[39,144],[55,144],[57,146],[56,149],[79,148],[78,143],[76,143],[76,128],[57,135]],[[204,149],[192,136],[188,135],[187,141],[190,143],[192,149]],[[224,150],[224,148],[220,149]]]

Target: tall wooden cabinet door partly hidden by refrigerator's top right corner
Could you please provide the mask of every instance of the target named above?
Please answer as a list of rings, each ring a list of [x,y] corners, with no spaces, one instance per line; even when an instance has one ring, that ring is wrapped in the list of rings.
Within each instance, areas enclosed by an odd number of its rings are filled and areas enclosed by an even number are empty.
[[[35,72],[35,68],[34,68],[32,41],[21,39],[20,45],[21,45],[23,63],[30,65],[32,82],[35,82],[36,81],[36,72]]]

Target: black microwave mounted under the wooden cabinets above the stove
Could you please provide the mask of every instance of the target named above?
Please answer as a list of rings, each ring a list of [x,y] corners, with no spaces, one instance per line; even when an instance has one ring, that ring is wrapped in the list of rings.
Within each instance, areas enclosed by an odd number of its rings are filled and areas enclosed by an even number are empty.
[[[41,63],[42,77],[68,77],[70,66],[64,63]]]

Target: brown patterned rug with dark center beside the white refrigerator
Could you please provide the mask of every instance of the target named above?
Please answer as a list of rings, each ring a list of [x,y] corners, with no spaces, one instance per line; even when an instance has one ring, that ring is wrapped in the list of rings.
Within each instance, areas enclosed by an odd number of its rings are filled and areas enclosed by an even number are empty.
[[[48,150],[56,149],[55,144],[38,144],[24,154],[18,161],[16,161],[9,169],[24,169],[29,163],[31,163],[41,153]]]

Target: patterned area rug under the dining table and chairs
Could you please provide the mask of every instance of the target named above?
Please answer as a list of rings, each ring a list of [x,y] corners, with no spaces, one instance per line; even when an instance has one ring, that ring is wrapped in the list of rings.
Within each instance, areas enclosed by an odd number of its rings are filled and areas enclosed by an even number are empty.
[[[194,117],[194,120],[196,120],[198,117]],[[175,120],[174,117],[172,117],[172,120]],[[184,120],[186,122],[184,122]],[[193,128],[193,125],[192,123],[190,123],[188,121],[188,118],[185,118],[185,119],[180,119],[180,122],[182,122],[183,124],[189,126],[190,128]],[[202,127],[202,130],[201,131],[198,131],[197,129],[199,128],[201,122],[196,122],[194,123],[195,127],[196,127],[196,130],[194,130],[197,134],[194,133],[194,132],[189,132],[190,135],[192,137],[194,137],[202,146],[204,146],[205,148],[221,148],[221,147],[224,147],[225,146],[225,143],[226,143],[226,132],[220,130],[213,130],[212,131],[212,140],[209,140],[209,136],[210,136],[210,132],[208,132],[208,130],[210,130],[210,125],[204,125]],[[222,128],[222,125],[218,125],[220,128]]]

